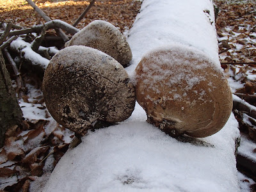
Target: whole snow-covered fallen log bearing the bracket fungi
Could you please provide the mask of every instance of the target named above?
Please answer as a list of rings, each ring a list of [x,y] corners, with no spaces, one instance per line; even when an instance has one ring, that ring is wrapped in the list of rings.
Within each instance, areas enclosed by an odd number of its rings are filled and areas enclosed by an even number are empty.
[[[210,0],[144,0],[127,41],[130,77],[143,55],[166,44],[198,49],[219,63]],[[62,157],[44,191],[239,191],[234,115],[216,134],[191,139],[199,146],[177,141],[146,120],[136,104],[125,122],[89,132]]]

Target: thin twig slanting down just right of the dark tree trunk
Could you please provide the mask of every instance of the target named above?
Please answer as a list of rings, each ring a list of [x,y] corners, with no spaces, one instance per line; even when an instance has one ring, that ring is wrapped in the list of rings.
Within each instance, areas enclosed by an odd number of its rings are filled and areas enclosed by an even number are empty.
[[[15,74],[15,76],[17,77],[16,78],[16,81],[17,81],[17,86],[18,86],[18,89],[17,89],[17,93],[19,95],[19,99],[22,98],[22,95],[24,95],[24,93],[22,92],[22,89],[24,88],[24,84],[22,82],[22,78],[20,76],[20,72],[16,66],[16,63],[15,61],[13,61],[13,58],[12,56],[10,55],[10,53],[7,51],[7,49],[4,49],[4,54],[6,55],[6,57],[8,58],[10,64],[12,65],[12,68],[13,68],[13,72]]]

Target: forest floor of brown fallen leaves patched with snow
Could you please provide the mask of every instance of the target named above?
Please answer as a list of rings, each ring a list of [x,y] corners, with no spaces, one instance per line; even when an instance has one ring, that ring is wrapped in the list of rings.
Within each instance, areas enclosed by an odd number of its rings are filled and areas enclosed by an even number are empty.
[[[73,24],[90,3],[90,1],[83,0],[38,0],[34,2],[51,19],[60,19],[68,24]],[[248,97],[248,95],[255,95],[256,92],[255,3],[253,1],[241,3],[241,1],[219,0],[216,4],[220,8],[216,19],[220,61],[227,74],[232,92],[241,94],[244,100],[256,106],[255,97]],[[77,28],[82,29],[92,20],[101,19],[111,22],[120,31],[126,33],[131,28],[140,6],[141,1],[134,0],[96,1]],[[45,21],[25,0],[0,0],[0,22],[12,22],[28,28]],[[15,85],[15,76],[12,72],[10,73]],[[22,96],[20,107],[23,109],[31,107],[35,116],[39,115],[37,118],[24,116],[24,125],[9,131],[5,145],[0,149],[0,175],[2,176],[0,177],[0,190],[5,191],[40,189],[74,138],[74,133],[61,125],[50,124],[51,120],[48,119],[49,114],[42,96],[41,80],[26,74],[22,74],[22,80],[26,91]],[[25,111],[24,114],[27,112],[30,111]],[[238,112],[234,109],[241,132],[254,143],[256,149],[256,132],[253,132],[256,130],[256,124],[248,123],[244,120],[243,114]],[[253,184],[252,180],[244,178],[241,182]],[[252,190],[253,188],[255,185],[252,186]]]

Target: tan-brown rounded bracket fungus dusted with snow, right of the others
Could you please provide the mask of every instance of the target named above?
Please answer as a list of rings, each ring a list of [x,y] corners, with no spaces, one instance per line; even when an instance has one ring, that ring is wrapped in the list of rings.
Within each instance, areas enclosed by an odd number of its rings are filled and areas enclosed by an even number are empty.
[[[230,116],[232,94],[223,70],[195,48],[150,52],[136,67],[136,80],[148,122],[171,136],[211,136]]]

